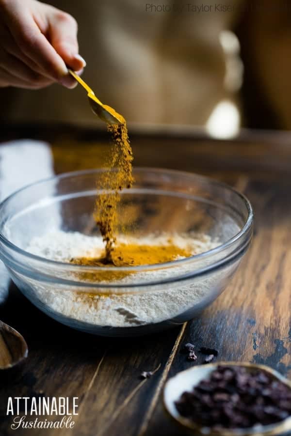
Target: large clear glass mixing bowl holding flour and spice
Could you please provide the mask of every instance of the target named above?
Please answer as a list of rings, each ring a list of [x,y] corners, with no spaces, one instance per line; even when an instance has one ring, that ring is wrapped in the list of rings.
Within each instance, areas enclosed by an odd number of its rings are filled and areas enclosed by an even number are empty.
[[[0,259],[12,280],[41,311],[98,335],[141,335],[194,318],[225,289],[250,245],[250,203],[206,177],[135,168],[134,187],[121,193],[120,234],[142,238],[166,232],[189,239],[207,234],[216,247],[166,264],[115,268],[112,281],[94,281],[108,273],[106,267],[28,252],[32,238],[52,231],[98,235],[92,215],[101,171],[40,181],[1,203]]]

